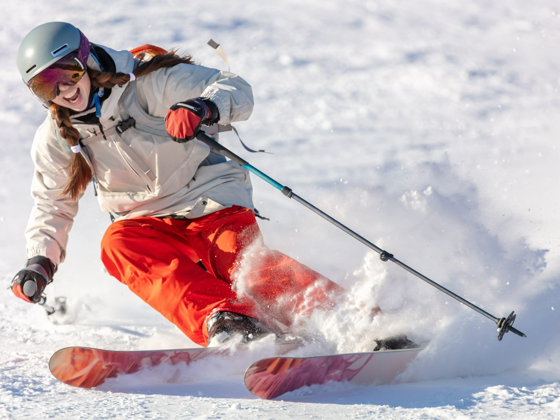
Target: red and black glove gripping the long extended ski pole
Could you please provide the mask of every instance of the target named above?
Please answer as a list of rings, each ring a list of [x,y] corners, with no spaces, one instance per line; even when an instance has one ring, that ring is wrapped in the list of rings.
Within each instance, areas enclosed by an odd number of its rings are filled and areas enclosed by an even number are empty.
[[[167,133],[178,143],[197,137],[200,125],[216,124],[220,120],[218,106],[203,97],[189,99],[171,106],[165,116]]]

